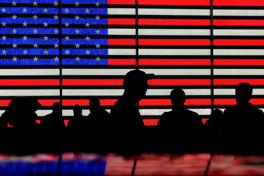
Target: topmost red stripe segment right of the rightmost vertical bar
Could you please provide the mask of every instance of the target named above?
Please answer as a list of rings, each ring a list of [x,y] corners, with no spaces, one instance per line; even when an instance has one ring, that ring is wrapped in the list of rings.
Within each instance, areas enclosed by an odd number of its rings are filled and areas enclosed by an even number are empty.
[[[264,6],[264,1],[262,0],[214,0],[214,6]]]

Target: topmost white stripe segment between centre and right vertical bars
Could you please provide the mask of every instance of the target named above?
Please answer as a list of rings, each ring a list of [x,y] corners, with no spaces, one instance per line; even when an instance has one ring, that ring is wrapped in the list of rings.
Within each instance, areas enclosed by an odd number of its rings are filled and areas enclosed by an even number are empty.
[[[209,9],[138,9],[138,15],[210,15]]]

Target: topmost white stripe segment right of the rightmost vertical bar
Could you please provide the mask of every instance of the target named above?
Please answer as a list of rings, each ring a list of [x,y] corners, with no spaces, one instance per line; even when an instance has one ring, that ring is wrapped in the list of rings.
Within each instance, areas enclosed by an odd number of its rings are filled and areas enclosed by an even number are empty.
[[[214,9],[214,16],[264,16],[264,10]]]

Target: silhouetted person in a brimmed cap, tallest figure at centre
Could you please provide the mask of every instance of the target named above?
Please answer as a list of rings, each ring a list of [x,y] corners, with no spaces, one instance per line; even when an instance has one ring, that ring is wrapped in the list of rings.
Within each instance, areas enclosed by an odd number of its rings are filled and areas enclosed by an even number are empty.
[[[124,93],[110,111],[114,132],[114,149],[118,152],[139,152],[143,149],[145,126],[136,103],[146,96],[149,79],[154,74],[131,70],[124,78]]]

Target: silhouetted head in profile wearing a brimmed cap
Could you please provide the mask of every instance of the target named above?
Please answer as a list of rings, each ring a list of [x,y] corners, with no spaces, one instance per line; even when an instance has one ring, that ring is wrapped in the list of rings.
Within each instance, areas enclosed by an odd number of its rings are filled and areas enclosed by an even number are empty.
[[[154,74],[146,74],[141,70],[131,70],[124,78],[123,86],[125,92],[136,101],[139,101],[146,96],[148,80],[153,78]]]

